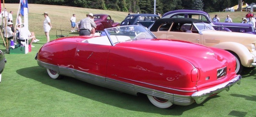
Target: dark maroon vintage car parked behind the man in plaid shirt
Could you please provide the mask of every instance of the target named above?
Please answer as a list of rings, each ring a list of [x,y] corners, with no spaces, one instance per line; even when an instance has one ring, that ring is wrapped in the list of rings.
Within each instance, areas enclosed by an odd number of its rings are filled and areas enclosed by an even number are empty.
[[[114,22],[110,15],[107,14],[93,14],[94,22],[96,24],[96,31],[103,31],[105,28],[120,26],[120,23]]]

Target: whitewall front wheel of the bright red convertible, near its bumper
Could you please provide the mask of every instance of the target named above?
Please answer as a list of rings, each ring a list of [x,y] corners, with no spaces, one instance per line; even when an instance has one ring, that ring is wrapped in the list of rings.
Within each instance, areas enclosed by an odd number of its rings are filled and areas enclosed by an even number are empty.
[[[170,101],[168,101],[166,99],[162,99],[162,98],[158,98],[158,97],[150,96],[150,95],[147,95],[147,96],[148,96],[149,101],[156,107],[172,108],[174,106]]]

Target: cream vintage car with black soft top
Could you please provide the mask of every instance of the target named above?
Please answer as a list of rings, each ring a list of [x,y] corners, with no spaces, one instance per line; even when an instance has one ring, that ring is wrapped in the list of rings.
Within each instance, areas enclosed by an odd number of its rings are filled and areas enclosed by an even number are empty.
[[[149,29],[160,39],[188,41],[229,51],[236,58],[236,74],[244,67],[256,67],[256,35],[216,31],[210,22],[191,18],[157,19]]]

